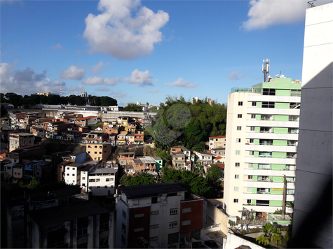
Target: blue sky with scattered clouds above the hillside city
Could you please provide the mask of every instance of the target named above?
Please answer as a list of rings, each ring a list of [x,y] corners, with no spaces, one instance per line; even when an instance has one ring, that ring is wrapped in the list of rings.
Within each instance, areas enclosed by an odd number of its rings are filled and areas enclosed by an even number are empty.
[[[315,6],[332,2],[315,1]],[[282,71],[301,79],[307,0],[1,1],[1,92],[226,103]]]

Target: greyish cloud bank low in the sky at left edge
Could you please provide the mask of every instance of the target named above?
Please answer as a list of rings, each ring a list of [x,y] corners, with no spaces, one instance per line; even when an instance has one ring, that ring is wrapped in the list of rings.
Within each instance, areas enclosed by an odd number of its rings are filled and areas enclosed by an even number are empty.
[[[60,92],[60,81],[46,78],[47,71],[36,73],[33,69],[15,70],[14,64],[0,64],[1,92],[15,92],[22,96],[36,92]],[[67,90],[66,83],[62,82],[62,90]]]

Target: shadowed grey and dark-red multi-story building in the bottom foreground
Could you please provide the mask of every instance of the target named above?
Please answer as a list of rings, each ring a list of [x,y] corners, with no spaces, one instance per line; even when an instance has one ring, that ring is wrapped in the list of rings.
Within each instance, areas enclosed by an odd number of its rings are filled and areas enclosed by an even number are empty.
[[[176,183],[119,187],[116,248],[181,248],[200,239],[203,198]]]

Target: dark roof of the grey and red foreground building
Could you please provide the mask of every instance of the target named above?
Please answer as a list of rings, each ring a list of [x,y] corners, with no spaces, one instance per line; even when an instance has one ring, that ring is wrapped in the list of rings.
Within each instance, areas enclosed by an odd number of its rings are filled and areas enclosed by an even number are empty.
[[[175,192],[186,192],[184,187],[177,183],[156,183],[149,185],[136,185],[130,187],[119,187],[128,199],[142,197],[154,197],[161,194],[171,194]]]

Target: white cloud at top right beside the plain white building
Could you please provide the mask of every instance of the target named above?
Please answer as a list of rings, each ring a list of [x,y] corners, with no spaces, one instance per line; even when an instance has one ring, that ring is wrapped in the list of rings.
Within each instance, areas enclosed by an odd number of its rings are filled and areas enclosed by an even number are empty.
[[[249,20],[242,27],[247,30],[264,29],[276,24],[304,20],[308,0],[251,0],[247,13]]]

